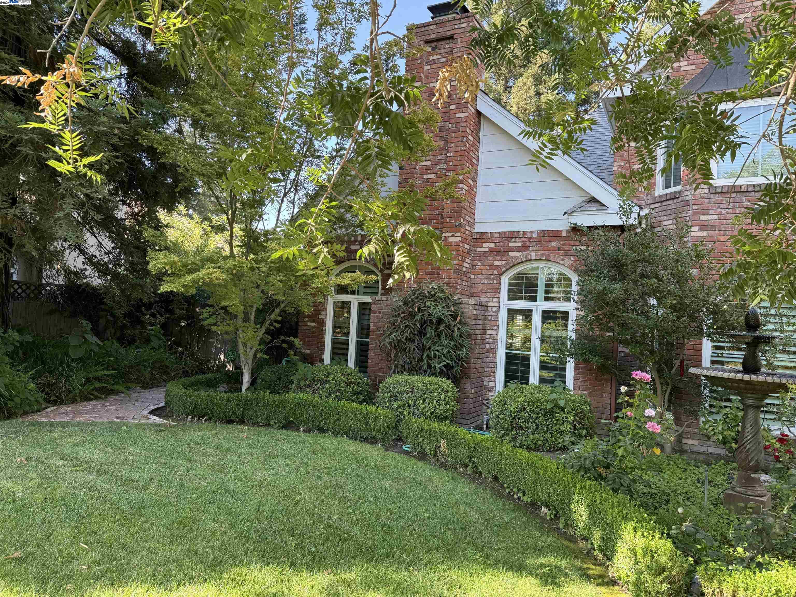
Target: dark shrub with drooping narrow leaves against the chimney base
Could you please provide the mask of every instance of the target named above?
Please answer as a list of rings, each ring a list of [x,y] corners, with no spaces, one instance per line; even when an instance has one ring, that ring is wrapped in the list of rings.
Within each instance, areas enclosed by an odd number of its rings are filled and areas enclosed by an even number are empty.
[[[462,307],[444,284],[420,283],[393,306],[380,349],[390,363],[390,375],[443,377],[457,384],[470,356]]]

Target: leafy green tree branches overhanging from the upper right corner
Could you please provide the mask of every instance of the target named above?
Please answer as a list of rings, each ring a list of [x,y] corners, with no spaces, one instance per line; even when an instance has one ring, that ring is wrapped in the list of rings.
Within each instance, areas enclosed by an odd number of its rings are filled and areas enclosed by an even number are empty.
[[[735,158],[742,150],[766,143],[777,159],[758,200],[739,218],[731,237],[732,264],[724,279],[735,280],[736,295],[751,302],[796,302],[796,6],[771,0],[744,23],[727,8],[700,17],[698,0],[572,0],[549,7],[542,0],[518,2],[506,18],[478,32],[471,55],[440,72],[439,99],[451,76],[468,80],[474,61],[488,71],[510,68],[546,55],[543,68],[570,86],[571,96],[545,100],[525,122],[538,148],[531,163],[544,167],[556,155],[583,151],[583,136],[595,124],[579,108],[595,91],[615,98],[611,146],[633,167],[615,175],[623,197],[650,187],[657,174],[658,150],[669,146],[663,168],[681,161],[696,187],[712,179],[716,158]],[[494,2],[475,2],[489,14]],[[650,28],[654,34],[650,35]],[[749,82],[738,90],[694,93],[683,79],[669,76],[673,64],[700,54],[718,68],[732,62],[732,49],[748,45]],[[743,139],[743,122],[727,104],[774,97],[771,119],[756,139]],[[739,169],[738,176],[743,171]]]

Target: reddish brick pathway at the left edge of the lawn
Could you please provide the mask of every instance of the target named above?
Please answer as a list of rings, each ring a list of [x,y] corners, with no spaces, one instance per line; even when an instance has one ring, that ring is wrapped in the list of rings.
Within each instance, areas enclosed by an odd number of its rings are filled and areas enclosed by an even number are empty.
[[[166,423],[149,412],[163,406],[166,386],[146,390],[135,388],[130,394],[115,394],[103,400],[64,404],[23,416],[28,421],[143,421]]]

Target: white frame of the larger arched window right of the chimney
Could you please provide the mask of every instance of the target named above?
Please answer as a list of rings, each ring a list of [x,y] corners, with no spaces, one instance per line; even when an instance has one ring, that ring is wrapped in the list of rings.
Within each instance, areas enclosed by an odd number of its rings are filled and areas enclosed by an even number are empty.
[[[572,279],[572,300],[569,302],[560,301],[509,301],[509,278],[520,271],[544,265],[564,272]],[[504,387],[504,366],[505,366],[505,335],[509,309],[533,309],[533,347],[531,349],[531,372],[530,383],[539,383],[539,357],[541,352],[541,317],[542,310],[569,311],[568,336],[572,338],[575,334],[575,294],[577,291],[578,278],[568,268],[552,261],[535,260],[525,261],[512,267],[501,276],[500,283],[500,315],[497,333],[497,375],[495,379],[495,392],[500,392]],[[573,389],[575,382],[575,361],[567,359],[567,387]]]

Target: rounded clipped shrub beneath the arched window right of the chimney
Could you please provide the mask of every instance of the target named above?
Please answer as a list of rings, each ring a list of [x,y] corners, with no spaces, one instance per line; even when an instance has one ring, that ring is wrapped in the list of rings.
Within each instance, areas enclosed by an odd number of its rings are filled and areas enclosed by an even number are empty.
[[[593,425],[587,397],[561,385],[511,384],[490,408],[492,434],[526,450],[570,447],[591,435]]]

